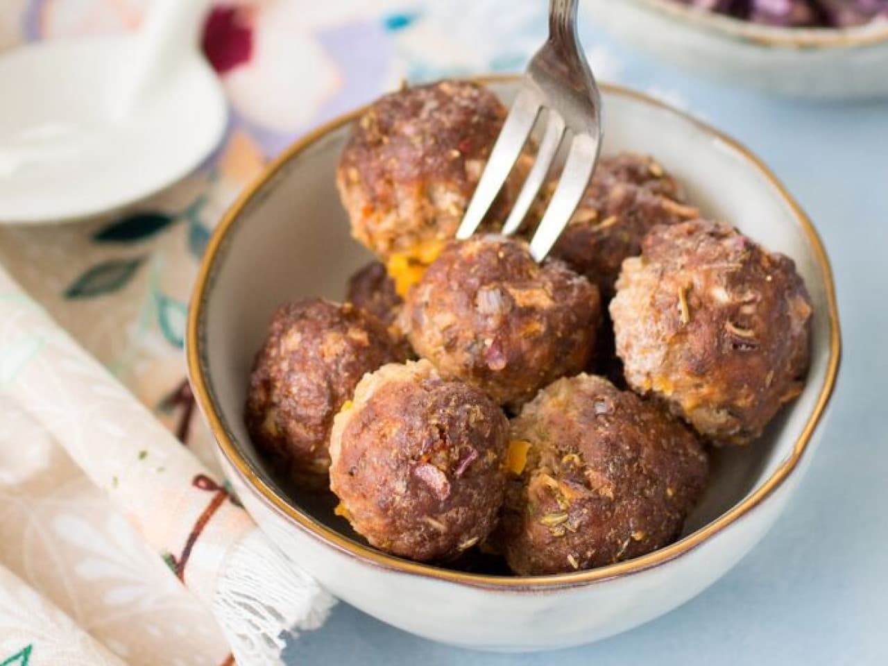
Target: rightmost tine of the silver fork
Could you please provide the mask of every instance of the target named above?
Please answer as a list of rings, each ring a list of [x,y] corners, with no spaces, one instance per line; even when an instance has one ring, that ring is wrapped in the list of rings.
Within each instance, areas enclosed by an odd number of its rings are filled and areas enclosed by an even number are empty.
[[[589,134],[577,134],[574,137],[558,187],[555,188],[555,194],[543,215],[543,221],[530,241],[530,254],[536,261],[543,261],[549,254],[552,245],[573,217],[583,198],[583,192],[589,185],[598,155],[598,138]]]

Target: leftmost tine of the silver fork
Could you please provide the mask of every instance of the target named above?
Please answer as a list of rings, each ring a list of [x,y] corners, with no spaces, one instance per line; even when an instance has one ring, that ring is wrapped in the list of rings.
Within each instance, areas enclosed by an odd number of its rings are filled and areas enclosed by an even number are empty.
[[[527,88],[519,92],[511,106],[509,115],[503,123],[503,129],[496,139],[490,152],[487,166],[481,173],[475,194],[465,211],[463,222],[456,231],[456,238],[465,239],[475,233],[481,220],[487,214],[490,205],[496,199],[514,166],[521,149],[527,142],[527,136],[534,128],[536,116],[540,113],[540,102],[534,91]]]

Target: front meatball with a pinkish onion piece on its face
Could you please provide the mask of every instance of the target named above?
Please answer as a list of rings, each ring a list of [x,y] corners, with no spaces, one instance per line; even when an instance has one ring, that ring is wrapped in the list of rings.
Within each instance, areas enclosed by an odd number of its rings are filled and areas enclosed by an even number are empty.
[[[429,361],[364,377],[330,439],[330,488],[369,543],[450,559],[484,539],[503,503],[508,422],[472,385]]]

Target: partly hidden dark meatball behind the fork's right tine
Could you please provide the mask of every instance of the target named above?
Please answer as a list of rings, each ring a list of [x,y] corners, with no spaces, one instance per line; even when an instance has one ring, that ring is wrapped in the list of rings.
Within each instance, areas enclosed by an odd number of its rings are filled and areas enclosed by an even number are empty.
[[[604,157],[552,256],[595,282],[605,299],[614,296],[622,260],[641,252],[654,226],[696,218],[685,194],[647,155]]]

